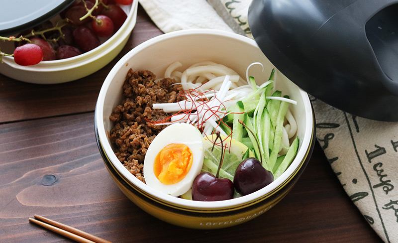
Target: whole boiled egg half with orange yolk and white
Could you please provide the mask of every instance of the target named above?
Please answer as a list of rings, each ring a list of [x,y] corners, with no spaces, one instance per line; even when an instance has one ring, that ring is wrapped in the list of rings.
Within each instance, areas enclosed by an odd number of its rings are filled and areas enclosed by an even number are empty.
[[[192,187],[202,165],[200,131],[191,124],[174,123],[149,145],[144,160],[145,182],[158,191],[180,196]]]

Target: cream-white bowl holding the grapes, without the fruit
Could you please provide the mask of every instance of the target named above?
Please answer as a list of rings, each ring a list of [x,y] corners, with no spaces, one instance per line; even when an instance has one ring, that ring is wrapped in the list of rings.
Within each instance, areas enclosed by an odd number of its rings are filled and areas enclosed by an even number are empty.
[[[58,84],[74,81],[100,70],[123,49],[135,26],[138,1],[121,7],[127,14],[123,25],[111,37],[101,38],[102,43],[93,50],[71,58],[41,61],[32,66],[20,66],[14,62],[13,57],[3,56],[0,73],[27,83]],[[0,48],[4,53],[12,53],[14,43],[1,41]]]

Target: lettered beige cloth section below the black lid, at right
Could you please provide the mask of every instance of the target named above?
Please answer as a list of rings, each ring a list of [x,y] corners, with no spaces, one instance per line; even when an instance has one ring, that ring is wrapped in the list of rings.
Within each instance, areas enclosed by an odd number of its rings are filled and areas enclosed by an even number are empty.
[[[398,122],[312,105],[316,137],[341,185],[384,242],[398,242]]]

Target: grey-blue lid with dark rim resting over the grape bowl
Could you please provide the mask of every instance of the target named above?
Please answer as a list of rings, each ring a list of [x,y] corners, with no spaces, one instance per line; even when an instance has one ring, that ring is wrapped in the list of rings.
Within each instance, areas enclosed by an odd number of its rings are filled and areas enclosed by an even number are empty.
[[[60,13],[74,0],[10,0],[1,2],[0,35],[32,28]]]

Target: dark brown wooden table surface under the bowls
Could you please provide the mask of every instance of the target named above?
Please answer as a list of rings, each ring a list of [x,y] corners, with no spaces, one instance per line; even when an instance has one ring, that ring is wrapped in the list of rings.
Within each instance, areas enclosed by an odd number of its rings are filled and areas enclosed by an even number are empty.
[[[94,109],[116,61],[159,34],[140,6],[127,45],[95,74],[57,85],[28,84],[0,75],[1,243],[72,242],[29,224],[34,214],[114,243],[381,242],[317,143],[293,190],[266,214],[236,227],[184,229],[129,201],[103,165],[94,135]]]

